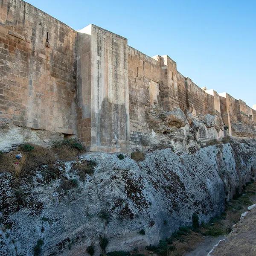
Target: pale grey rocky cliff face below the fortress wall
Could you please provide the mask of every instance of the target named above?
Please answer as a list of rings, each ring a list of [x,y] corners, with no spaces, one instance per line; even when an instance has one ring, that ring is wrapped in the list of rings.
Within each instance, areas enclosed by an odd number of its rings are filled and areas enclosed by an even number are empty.
[[[95,255],[157,244],[192,215],[209,221],[256,172],[256,142],[177,155],[156,150],[137,163],[91,153],[17,180],[0,173],[0,255]],[[108,241],[108,243],[107,243]]]

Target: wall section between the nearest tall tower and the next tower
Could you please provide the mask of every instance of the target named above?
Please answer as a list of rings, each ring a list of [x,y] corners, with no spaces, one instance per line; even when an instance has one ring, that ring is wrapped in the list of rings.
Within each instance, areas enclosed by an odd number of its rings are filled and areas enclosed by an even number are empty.
[[[151,132],[148,128],[146,110],[160,100],[160,83],[159,61],[128,47],[131,145],[140,145],[143,136]]]

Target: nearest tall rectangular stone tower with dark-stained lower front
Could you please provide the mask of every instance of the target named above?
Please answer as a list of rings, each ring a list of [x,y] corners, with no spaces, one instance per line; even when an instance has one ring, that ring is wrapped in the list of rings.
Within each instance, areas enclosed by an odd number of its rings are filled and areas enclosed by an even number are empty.
[[[127,39],[92,24],[80,33],[80,137],[92,151],[129,151]]]

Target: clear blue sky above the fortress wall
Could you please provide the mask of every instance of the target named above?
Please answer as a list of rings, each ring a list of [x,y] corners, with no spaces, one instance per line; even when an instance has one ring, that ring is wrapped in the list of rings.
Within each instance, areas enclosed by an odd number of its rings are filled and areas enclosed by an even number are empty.
[[[256,0],[27,0],[73,29],[90,23],[169,55],[199,87],[256,104]]]

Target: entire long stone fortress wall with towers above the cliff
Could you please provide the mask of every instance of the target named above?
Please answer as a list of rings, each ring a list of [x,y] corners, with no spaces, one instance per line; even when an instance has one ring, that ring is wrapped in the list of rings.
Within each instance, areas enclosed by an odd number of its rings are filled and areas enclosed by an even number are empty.
[[[92,151],[130,151],[154,133],[154,106],[219,116],[229,135],[256,137],[256,107],[201,89],[169,56],[151,58],[98,26],[76,32],[22,0],[0,0],[3,137],[14,125],[77,136]]]

